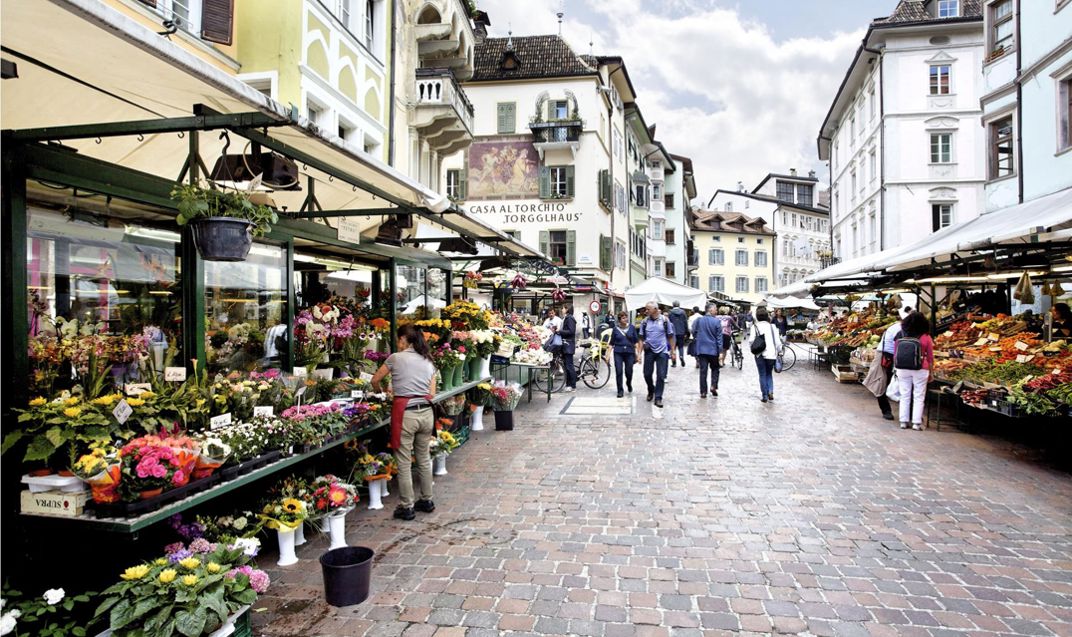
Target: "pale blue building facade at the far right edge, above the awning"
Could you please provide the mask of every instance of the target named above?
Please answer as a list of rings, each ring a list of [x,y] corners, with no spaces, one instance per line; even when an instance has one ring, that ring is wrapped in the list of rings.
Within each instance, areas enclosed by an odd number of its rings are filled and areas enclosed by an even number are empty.
[[[1072,2],[989,0],[983,13],[992,211],[1072,187]]]

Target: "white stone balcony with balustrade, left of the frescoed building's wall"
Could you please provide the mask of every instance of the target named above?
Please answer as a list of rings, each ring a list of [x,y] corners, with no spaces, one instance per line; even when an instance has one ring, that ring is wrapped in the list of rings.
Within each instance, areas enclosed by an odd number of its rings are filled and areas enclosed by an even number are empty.
[[[473,140],[473,104],[450,70],[418,69],[414,102],[413,125],[440,154],[462,150]]]

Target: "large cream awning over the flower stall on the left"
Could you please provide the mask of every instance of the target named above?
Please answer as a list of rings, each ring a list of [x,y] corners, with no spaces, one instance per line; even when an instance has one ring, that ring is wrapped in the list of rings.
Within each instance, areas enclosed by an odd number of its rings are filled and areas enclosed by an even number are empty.
[[[296,107],[271,100],[103,2],[5,3],[3,18],[4,58],[18,69],[17,77],[4,80],[3,128],[16,131],[15,140],[62,144],[34,148],[39,154],[65,150],[74,159],[137,171],[135,177],[175,181],[190,154],[188,135],[197,136],[198,152],[207,165],[228,144],[228,152],[240,153],[256,143],[266,152],[283,153],[298,164],[299,189],[270,193],[281,210],[349,212],[307,218],[319,218],[334,231],[346,217],[349,229],[359,233],[375,228],[384,214],[412,212],[459,235],[490,237],[496,239],[492,245],[518,247],[508,236],[452,207],[444,195],[319,129],[299,116]],[[47,38],[42,36],[44,25]],[[184,118],[191,122],[190,130],[196,130],[195,105],[203,105],[202,115],[219,116],[227,125],[189,134],[164,125]],[[234,119],[227,120],[228,116]],[[259,125],[263,122],[268,123]],[[131,124],[129,132],[121,132],[124,124]],[[161,127],[160,132],[153,132],[154,124]],[[86,136],[64,130],[102,125],[116,131]],[[210,127],[200,120],[199,128],[207,131]],[[221,129],[228,134],[221,135]],[[315,205],[310,205],[313,190]],[[166,201],[143,197],[143,203]],[[504,251],[509,253],[508,248]],[[520,251],[536,252],[527,247]]]

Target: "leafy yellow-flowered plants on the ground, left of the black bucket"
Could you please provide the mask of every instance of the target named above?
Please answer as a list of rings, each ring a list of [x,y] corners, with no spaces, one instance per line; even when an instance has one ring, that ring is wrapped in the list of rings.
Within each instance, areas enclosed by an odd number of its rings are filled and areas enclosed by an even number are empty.
[[[254,568],[248,540],[190,547],[173,545],[167,555],[126,568],[103,592],[95,619],[114,637],[209,635],[228,624],[248,625],[247,612],[270,578]],[[229,633],[230,631],[228,631]]]

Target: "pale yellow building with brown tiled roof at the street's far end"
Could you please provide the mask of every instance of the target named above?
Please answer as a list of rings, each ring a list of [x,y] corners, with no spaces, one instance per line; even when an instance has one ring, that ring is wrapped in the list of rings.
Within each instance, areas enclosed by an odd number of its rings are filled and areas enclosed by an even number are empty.
[[[773,290],[775,234],[761,218],[733,212],[696,211],[693,246],[696,277],[708,294],[749,303]]]

